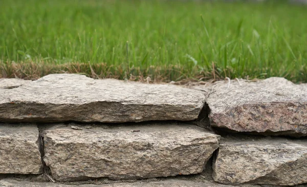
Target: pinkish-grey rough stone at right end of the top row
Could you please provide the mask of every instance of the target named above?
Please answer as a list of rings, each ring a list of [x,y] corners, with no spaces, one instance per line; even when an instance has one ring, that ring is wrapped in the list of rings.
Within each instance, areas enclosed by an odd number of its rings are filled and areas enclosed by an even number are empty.
[[[241,84],[241,85],[240,85]],[[209,88],[208,90],[212,90]],[[284,78],[219,81],[206,101],[212,127],[272,135],[307,135],[307,84]]]

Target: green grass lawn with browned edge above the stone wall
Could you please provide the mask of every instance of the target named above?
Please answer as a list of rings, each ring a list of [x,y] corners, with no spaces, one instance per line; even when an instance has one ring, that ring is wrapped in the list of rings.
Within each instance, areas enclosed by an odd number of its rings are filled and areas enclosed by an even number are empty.
[[[0,77],[307,82],[307,7],[280,1],[1,0]],[[90,65],[91,64],[91,65]]]

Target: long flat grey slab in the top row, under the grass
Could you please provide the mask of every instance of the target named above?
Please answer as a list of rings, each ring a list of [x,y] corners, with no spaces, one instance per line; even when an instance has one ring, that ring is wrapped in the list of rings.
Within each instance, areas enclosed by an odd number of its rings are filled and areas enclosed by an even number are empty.
[[[0,122],[141,122],[198,118],[201,91],[169,84],[52,74],[0,89]]]

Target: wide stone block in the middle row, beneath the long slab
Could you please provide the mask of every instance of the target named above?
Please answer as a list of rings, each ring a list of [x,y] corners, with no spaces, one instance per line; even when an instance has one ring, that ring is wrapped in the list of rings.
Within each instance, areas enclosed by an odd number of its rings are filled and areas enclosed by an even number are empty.
[[[45,156],[52,177],[77,181],[114,180],[200,173],[220,136],[191,125],[135,125],[118,128],[50,127]]]

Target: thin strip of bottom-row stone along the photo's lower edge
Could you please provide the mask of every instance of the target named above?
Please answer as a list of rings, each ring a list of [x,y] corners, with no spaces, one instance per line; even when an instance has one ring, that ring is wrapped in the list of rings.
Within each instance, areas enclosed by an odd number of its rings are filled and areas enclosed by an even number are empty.
[[[16,180],[0,180],[0,186],[4,187],[71,187],[74,185],[61,184],[61,183],[51,183],[51,182],[21,182]],[[204,182],[192,182],[186,180],[163,180],[163,181],[154,181],[154,182],[133,182],[133,183],[112,183],[112,184],[81,184],[78,186],[82,187],[231,187],[233,185],[225,185],[212,183],[209,181]],[[257,186],[247,186],[242,185],[242,187],[257,187]]]

